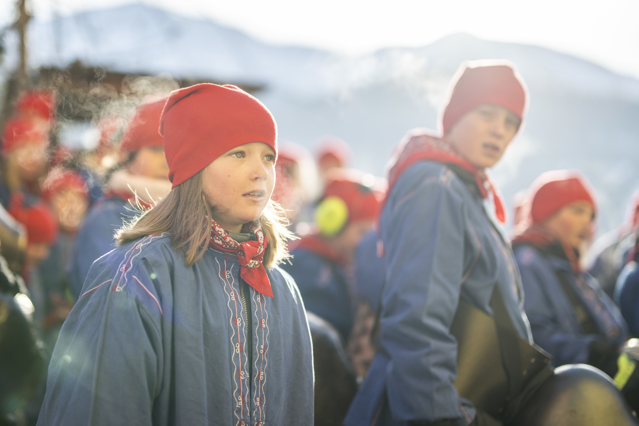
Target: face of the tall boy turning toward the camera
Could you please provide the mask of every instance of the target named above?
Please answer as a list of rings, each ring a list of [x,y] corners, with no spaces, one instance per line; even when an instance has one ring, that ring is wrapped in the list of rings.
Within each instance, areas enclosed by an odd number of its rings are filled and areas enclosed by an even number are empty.
[[[511,110],[483,103],[452,125],[445,139],[466,160],[483,169],[502,158],[520,124],[521,119]]]

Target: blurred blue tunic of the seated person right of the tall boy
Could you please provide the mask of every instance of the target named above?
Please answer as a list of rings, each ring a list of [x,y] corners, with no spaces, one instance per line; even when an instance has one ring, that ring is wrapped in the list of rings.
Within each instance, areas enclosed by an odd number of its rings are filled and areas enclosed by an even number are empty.
[[[530,320],[532,335],[535,343],[553,356],[555,367],[587,363],[589,346],[593,340],[601,340],[611,346],[620,346],[626,340],[627,326],[624,319],[589,273],[583,272],[582,278],[619,326],[620,332],[615,339],[606,340],[604,337],[602,319],[584,300],[585,295],[575,282],[576,277],[567,258],[543,254],[529,244],[518,245],[515,256],[526,293],[524,307]],[[598,333],[587,334],[583,331],[557,273],[566,279],[574,294],[580,298]]]

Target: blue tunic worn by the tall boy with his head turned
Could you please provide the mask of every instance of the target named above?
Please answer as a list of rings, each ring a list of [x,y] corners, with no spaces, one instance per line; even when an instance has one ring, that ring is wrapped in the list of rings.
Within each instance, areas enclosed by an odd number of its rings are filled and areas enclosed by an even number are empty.
[[[420,161],[392,188],[380,222],[387,266],[381,347],[345,425],[371,425],[385,399],[392,424],[470,423],[475,409],[453,385],[457,341],[449,330],[459,298],[492,314],[498,285],[514,327],[532,342],[511,248],[468,182]]]

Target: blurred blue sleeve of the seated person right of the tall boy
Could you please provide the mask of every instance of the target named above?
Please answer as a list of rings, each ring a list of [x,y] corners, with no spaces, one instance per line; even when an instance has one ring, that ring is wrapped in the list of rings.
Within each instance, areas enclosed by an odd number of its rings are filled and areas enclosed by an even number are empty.
[[[555,367],[586,363],[589,346],[598,339],[597,335],[581,333],[575,329],[576,324],[572,326],[567,321],[562,324],[561,318],[567,318],[573,308],[569,303],[558,308],[560,300],[556,295],[563,289],[550,265],[544,264],[532,248],[517,250],[516,259],[526,295],[524,308],[535,343],[553,356]]]

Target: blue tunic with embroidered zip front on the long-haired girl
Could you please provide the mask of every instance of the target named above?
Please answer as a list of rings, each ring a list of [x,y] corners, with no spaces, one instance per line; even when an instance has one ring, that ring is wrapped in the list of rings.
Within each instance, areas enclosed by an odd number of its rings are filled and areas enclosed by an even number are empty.
[[[167,234],[98,259],[60,332],[38,425],[312,425],[295,282],[267,270],[270,298],[239,271],[211,249],[185,266]]]

